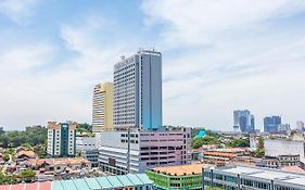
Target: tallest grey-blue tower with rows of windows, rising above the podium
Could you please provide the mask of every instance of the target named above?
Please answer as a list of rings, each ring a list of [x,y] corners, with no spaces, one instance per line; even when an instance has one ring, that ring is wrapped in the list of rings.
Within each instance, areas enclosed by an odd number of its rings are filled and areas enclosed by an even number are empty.
[[[114,126],[162,127],[162,54],[139,50],[114,65]]]

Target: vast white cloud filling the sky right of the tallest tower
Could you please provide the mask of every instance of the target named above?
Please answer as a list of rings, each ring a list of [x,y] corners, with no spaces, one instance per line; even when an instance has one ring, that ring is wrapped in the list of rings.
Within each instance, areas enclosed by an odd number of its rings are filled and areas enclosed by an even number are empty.
[[[179,51],[164,53],[165,123],[229,130],[234,109],[252,110],[259,128],[268,114],[305,119],[304,28],[276,29],[304,1],[147,0],[142,9],[147,27],[162,28],[160,47]]]

